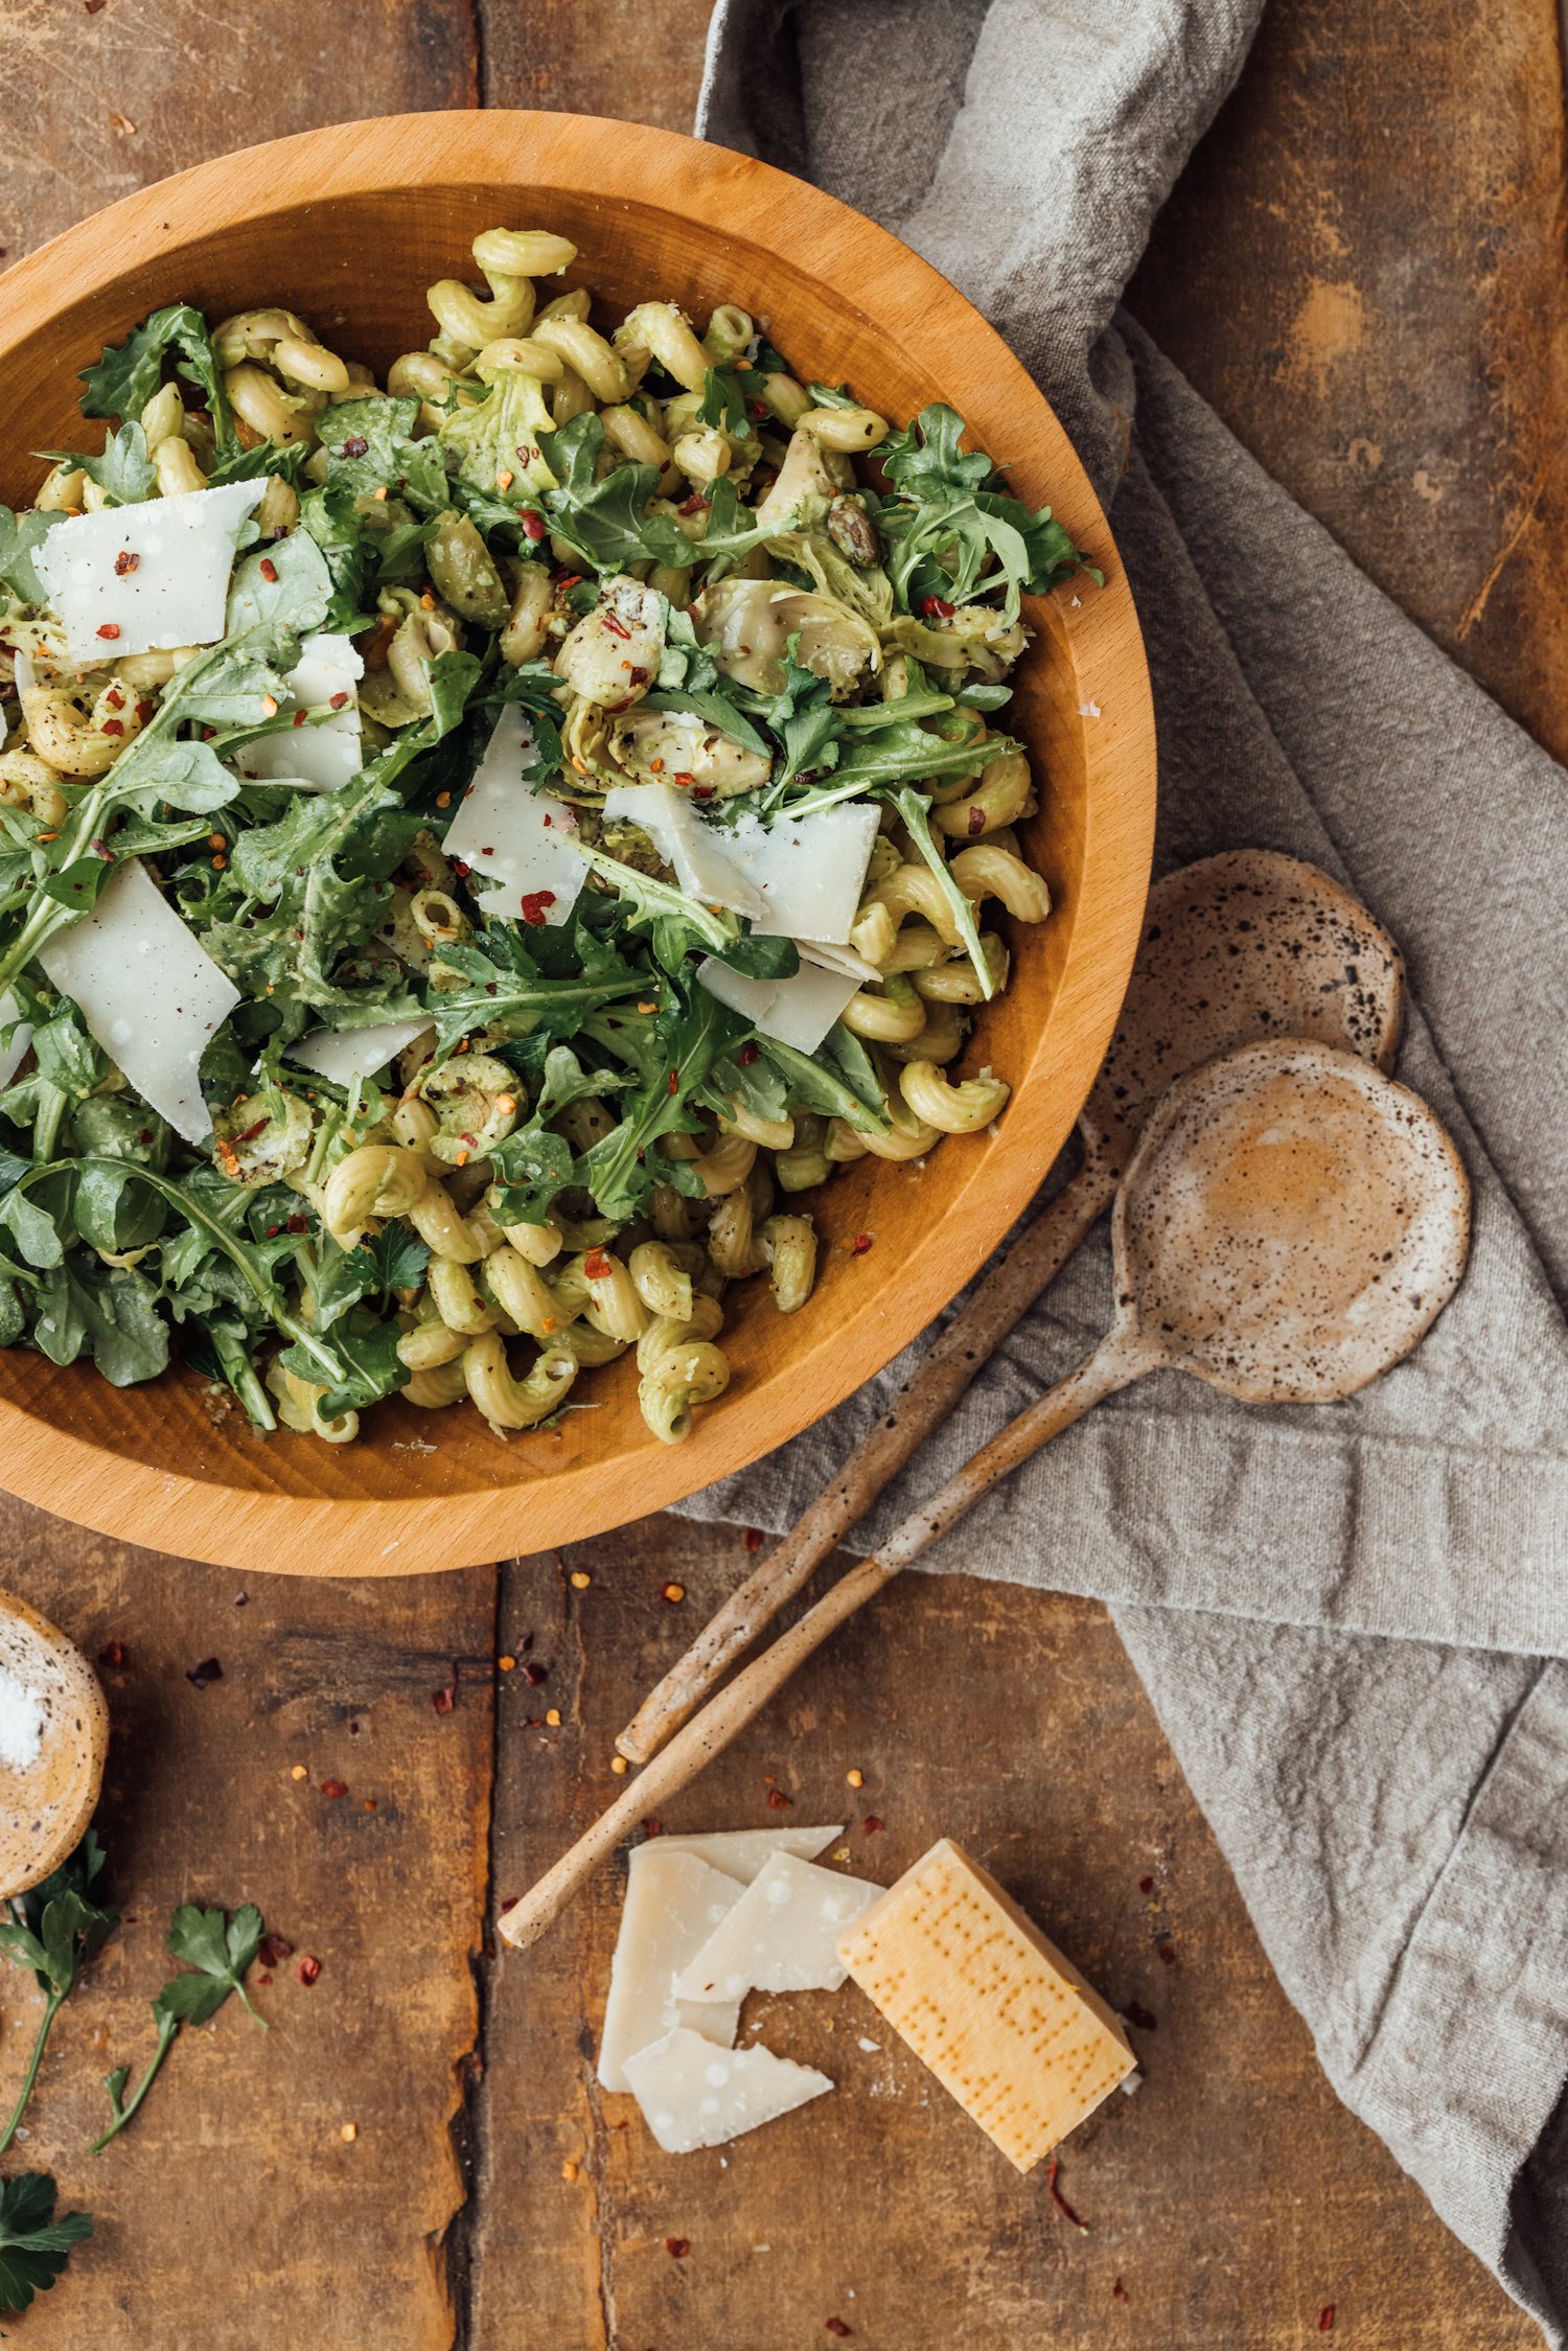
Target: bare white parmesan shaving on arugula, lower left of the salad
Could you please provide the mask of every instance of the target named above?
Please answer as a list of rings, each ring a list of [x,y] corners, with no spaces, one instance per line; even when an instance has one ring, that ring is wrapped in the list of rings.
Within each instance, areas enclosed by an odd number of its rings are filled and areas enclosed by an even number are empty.
[[[174,503],[174,501],[167,501]],[[92,517],[96,520],[96,517]],[[212,1117],[200,1060],[240,990],[162,896],[141,858],[129,858],[92,915],[38,950],[94,1039],[129,1084],[186,1143],[205,1143]]]

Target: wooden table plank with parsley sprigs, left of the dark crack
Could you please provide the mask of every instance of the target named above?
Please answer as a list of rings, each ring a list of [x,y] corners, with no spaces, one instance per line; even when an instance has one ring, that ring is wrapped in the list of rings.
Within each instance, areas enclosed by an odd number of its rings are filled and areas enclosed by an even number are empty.
[[[89,1657],[125,1646],[125,1665],[101,1669],[99,1824],[127,1918],[61,2010],[31,2137],[7,2163],[52,2170],[94,2238],[19,2332],[35,2351],[263,2351],[299,2342],[310,2311],[317,2351],[447,2351],[440,2248],[463,2203],[451,2123],[477,2036],[494,1575],[237,1578],[5,1502],[0,1580]],[[197,1690],[188,1672],[207,1657],[223,1676]],[[454,1669],[456,1704],[437,1714]],[[322,1780],[348,1794],[324,1796]],[[169,1911],[244,1900],[296,1947],[252,1984],[273,2031],[230,2001],[183,2034],[129,2130],[87,2156],[108,2121],[101,2076],[150,2052],[148,2003],[176,1972]],[[303,1954],[322,1965],[310,1987]],[[38,2022],[12,1968],[0,2020],[9,2111]]]

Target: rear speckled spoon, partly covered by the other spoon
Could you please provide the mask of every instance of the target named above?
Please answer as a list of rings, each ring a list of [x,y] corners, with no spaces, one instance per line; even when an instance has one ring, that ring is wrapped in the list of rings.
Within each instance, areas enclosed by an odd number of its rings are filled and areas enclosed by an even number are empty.
[[[646,1763],[663,1747],[943,1425],[1110,1208],[1143,1124],[1175,1077],[1258,1037],[1314,1037],[1389,1070],[1401,1025],[1399,947],[1316,865],[1274,849],[1232,849],[1157,882],[1121,1020],[1079,1119],[1084,1161],[1072,1183],[931,1342],[832,1483],[670,1667],[616,1740],[621,1754]]]

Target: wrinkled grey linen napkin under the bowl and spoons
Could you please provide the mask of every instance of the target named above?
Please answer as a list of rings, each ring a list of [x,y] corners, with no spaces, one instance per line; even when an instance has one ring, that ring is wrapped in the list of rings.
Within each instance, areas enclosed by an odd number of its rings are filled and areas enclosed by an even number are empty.
[[[722,0],[701,127],[905,235],[1048,390],[1145,630],[1159,870],[1305,856],[1406,955],[1401,1077],[1474,1183],[1469,1274],[1420,1349],[1331,1406],[1159,1373],[922,1563],[1112,1603],[1331,2083],[1568,2351],[1566,778],[1117,308],[1258,14]],[[1100,1227],[851,1547],[1107,1307]],[[790,1526],[929,1340],[686,1507]]]

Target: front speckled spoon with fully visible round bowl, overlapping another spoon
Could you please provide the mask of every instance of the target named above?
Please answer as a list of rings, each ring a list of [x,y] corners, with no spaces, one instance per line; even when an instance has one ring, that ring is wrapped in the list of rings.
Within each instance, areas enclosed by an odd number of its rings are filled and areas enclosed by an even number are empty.
[[[1467,1248],[1460,1154],[1420,1096],[1371,1063],[1281,1039],[1178,1079],[1117,1192],[1117,1312],[1088,1361],[701,1707],[505,1914],[503,1937],[534,1942],[635,1822],[679,1794],[844,1617],[1103,1396],[1161,1368],[1248,1404],[1352,1396],[1441,1314]]]

